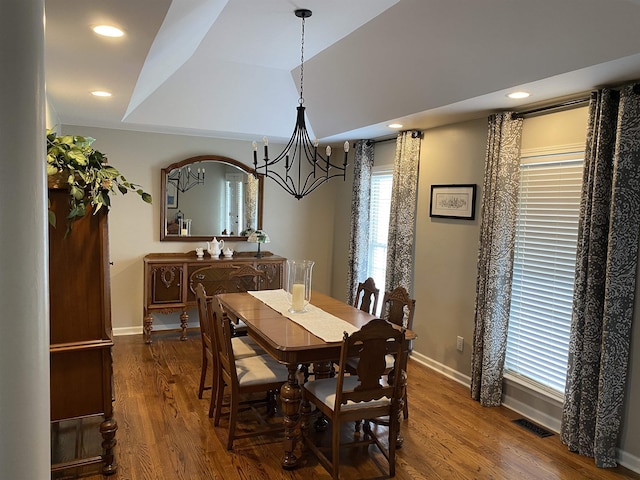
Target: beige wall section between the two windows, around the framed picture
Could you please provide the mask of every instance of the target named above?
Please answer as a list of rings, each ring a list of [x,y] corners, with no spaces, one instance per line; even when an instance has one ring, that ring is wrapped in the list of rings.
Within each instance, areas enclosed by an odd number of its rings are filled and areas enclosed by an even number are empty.
[[[427,130],[420,149],[415,350],[465,376],[471,373],[486,137],[486,120],[476,120]],[[429,217],[431,185],[438,184],[476,184],[475,220]],[[464,338],[462,352],[456,350],[458,336]]]

